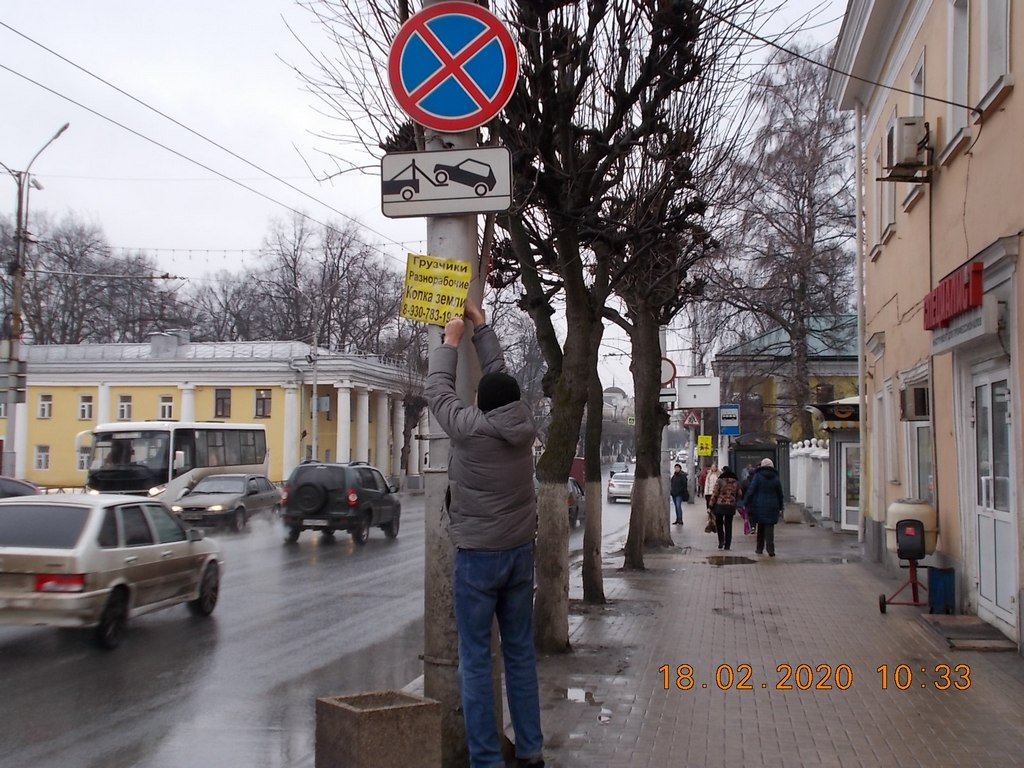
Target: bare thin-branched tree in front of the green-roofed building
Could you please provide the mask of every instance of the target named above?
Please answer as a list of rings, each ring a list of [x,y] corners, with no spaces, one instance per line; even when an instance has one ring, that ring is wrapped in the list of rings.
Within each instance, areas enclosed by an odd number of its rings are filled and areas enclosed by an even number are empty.
[[[853,296],[853,145],[849,117],[825,98],[827,51],[797,54],[779,53],[754,83],[761,120],[736,164],[738,213],[708,276],[709,296],[739,312],[733,329],[784,332],[791,351],[776,355],[785,365],[775,375],[785,421],[809,437],[809,341],[846,338]]]

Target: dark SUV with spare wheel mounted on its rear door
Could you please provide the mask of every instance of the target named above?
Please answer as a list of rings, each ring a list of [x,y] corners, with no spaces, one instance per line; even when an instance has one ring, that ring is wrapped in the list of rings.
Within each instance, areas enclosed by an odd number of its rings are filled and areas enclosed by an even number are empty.
[[[304,462],[292,470],[281,497],[285,540],[297,542],[303,530],[319,530],[325,537],[347,530],[356,544],[366,544],[373,525],[394,539],[401,517],[397,493],[366,462]]]

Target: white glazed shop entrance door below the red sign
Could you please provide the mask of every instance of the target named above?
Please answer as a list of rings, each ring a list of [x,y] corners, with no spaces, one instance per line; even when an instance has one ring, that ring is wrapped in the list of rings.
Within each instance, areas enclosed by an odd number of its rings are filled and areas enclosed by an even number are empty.
[[[1006,369],[974,377],[978,615],[1017,636],[1016,482]]]

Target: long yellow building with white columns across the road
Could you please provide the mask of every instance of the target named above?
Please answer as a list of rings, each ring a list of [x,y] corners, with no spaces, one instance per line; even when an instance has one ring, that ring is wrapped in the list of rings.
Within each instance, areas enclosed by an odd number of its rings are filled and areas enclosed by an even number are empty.
[[[28,387],[14,420],[15,475],[46,487],[84,484],[88,432],[109,422],[263,423],[274,481],[312,457],[367,461],[397,477],[406,433],[419,426],[406,429],[404,400],[420,390],[420,377],[379,355],[292,341],[191,343],[180,331],[142,344],[24,345],[22,352]],[[4,435],[6,408],[0,403]],[[410,474],[422,465],[421,442],[412,441]]]

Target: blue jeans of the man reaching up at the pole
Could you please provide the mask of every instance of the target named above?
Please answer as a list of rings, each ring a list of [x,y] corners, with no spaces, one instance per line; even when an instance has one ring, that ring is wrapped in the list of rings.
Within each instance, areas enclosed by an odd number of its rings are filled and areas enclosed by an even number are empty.
[[[472,768],[504,768],[490,677],[490,627],[498,616],[505,688],[517,758],[540,758],[541,702],[534,650],[534,545],[498,552],[459,550],[455,617],[459,685]]]

